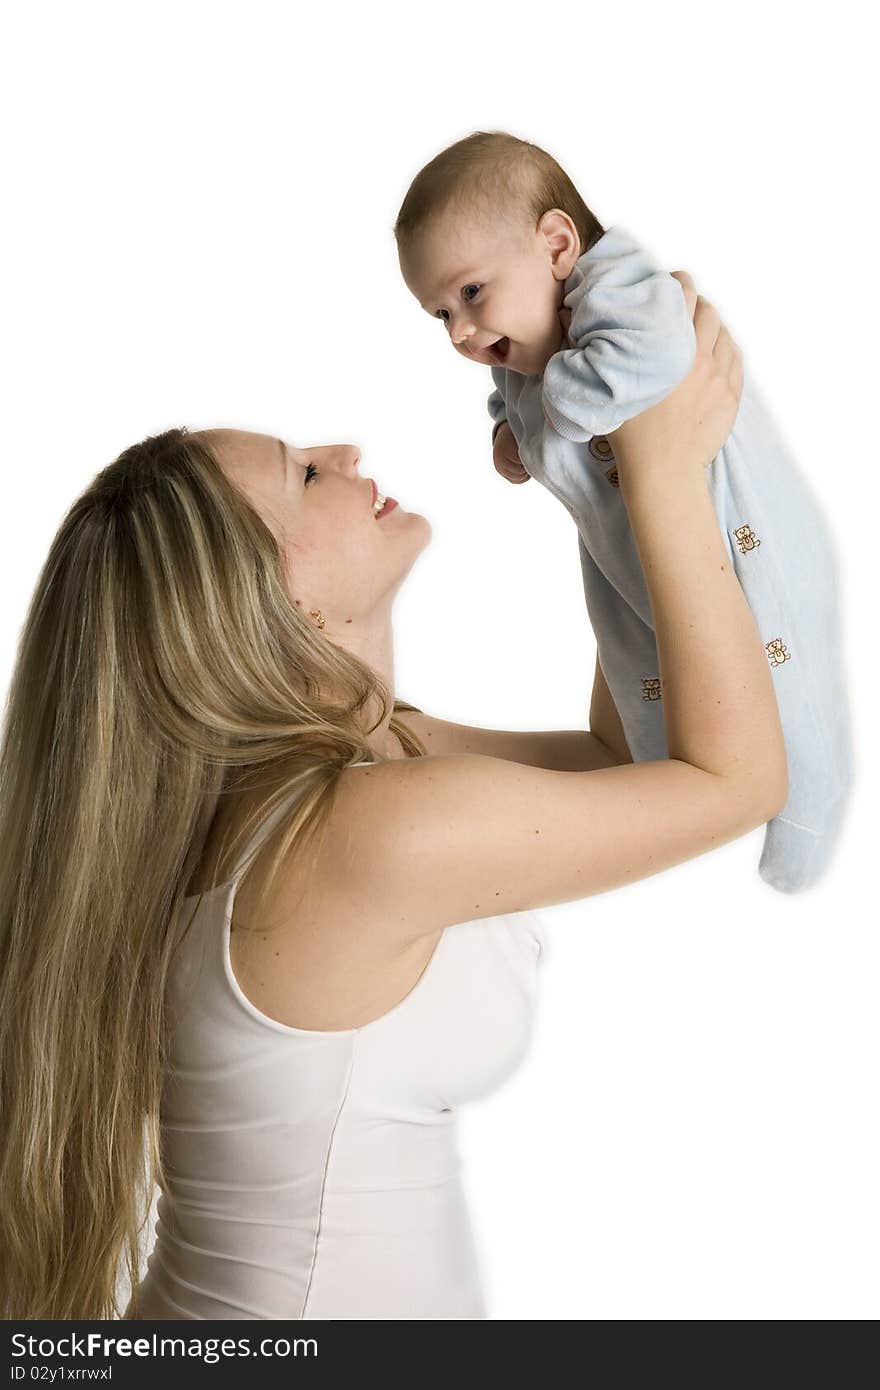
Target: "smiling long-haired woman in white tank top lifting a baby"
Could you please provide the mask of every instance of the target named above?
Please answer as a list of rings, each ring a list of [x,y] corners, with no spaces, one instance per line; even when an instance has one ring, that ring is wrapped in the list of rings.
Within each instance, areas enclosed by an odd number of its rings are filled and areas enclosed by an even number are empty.
[[[485,1316],[455,1106],[525,1047],[530,909],[787,795],[703,477],[741,354],[678,278],[694,368],[612,439],[667,760],[627,762],[598,667],[589,733],[392,706],[430,528],[377,520],[350,446],[170,431],[74,503],[0,760],[4,1318],[118,1316],[122,1257],[129,1318]]]

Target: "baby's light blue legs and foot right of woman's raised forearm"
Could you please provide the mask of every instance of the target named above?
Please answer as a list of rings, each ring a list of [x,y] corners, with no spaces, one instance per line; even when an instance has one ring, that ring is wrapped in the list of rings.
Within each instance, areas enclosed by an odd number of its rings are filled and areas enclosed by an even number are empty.
[[[785,738],[788,799],[767,824],[759,873],[797,892],[829,863],[854,776],[838,567],[824,517],[749,382],[709,485]]]

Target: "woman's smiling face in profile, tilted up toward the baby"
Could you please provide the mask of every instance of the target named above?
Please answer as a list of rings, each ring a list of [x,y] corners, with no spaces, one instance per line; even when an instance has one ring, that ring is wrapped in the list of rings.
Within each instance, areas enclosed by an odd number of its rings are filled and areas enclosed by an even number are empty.
[[[391,606],[431,525],[400,505],[377,520],[377,489],[359,471],[356,445],[304,449],[245,430],[200,434],[277,537],[291,594],[306,612],[320,609],[342,634],[346,623]]]

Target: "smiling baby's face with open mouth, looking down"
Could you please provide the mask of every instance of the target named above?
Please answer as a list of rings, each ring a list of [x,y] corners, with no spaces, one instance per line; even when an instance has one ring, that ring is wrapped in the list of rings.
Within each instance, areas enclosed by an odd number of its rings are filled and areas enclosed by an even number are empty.
[[[559,352],[559,310],[578,246],[577,232],[562,252],[548,239],[556,215],[534,229],[445,213],[400,254],[407,288],[463,357],[531,377]]]

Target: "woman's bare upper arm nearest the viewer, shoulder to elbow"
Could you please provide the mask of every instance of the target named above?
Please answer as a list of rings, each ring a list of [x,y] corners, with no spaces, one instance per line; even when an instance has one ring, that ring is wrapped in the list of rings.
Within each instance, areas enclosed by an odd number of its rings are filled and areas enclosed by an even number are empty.
[[[676,759],[582,773],[480,755],[349,767],[321,855],[323,901],[406,947],[662,873],[763,824],[785,795],[751,773]]]

